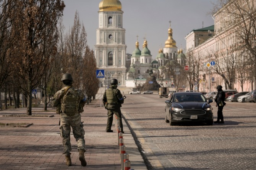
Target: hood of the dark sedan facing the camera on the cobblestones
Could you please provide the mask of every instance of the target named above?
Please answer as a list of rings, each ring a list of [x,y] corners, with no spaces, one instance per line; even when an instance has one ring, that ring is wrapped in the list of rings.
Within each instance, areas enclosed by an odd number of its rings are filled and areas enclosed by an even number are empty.
[[[211,106],[207,102],[181,102],[173,103],[172,107],[178,107],[183,109],[202,109]]]

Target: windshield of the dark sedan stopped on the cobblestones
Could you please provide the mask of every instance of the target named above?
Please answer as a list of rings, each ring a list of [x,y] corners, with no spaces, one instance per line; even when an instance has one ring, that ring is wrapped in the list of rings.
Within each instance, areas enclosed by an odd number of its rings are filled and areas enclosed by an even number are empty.
[[[173,102],[206,102],[206,98],[204,98],[204,95],[200,94],[175,94],[173,96]]]

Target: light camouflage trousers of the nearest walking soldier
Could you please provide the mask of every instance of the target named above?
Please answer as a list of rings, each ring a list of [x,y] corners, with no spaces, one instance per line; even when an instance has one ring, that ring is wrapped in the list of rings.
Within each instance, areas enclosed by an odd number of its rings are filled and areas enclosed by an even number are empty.
[[[60,114],[60,136],[62,137],[63,149],[65,156],[71,153],[70,143],[70,132],[71,127],[73,135],[77,141],[78,150],[85,151],[85,140],[84,140],[84,126],[81,122],[81,114],[76,113],[74,116],[67,116],[64,113]]]

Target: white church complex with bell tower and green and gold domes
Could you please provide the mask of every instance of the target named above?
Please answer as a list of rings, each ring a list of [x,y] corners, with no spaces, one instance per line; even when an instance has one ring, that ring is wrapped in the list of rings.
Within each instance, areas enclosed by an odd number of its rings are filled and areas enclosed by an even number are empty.
[[[160,48],[156,59],[152,59],[146,38],[139,49],[138,37],[135,49],[131,55],[131,64],[126,72],[126,45],[125,29],[123,28],[122,4],[119,0],[102,0],[99,3],[99,28],[97,29],[95,55],[97,67],[105,70],[104,85],[109,85],[111,79],[118,80],[118,86],[136,87],[136,84],[145,83],[152,71],[162,74],[167,61],[183,59],[178,58],[175,40],[172,37],[171,24],[168,29],[168,38],[165,47]],[[171,23],[171,22],[170,22]],[[183,54],[183,53],[182,53]],[[181,56],[181,55],[180,55]],[[136,83],[135,83],[136,82]]]

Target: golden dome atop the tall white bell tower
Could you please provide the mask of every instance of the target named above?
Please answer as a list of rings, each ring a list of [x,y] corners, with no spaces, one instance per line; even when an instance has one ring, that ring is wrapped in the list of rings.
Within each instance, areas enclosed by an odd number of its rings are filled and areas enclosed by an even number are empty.
[[[102,0],[99,3],[100,11],[122,11],[122,4],[119,0]]]

